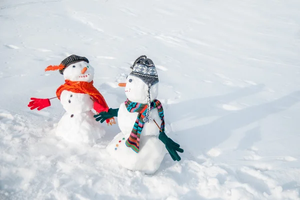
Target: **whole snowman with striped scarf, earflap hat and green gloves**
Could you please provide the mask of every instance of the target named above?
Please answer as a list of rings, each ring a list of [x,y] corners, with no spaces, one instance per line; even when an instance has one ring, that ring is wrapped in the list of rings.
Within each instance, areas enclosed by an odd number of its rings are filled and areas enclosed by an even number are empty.
[[[138,57],[130,67],[125,87],[127,100],[118,109],[94,115],[96,121],[104,122],[118,117],[121,130],[108,144],[106,150],[119,165],[145,174],[153,174],[159,168],[166,150],[174,161],[183,149],[164,133],[164,115],[158,95],[156,68],[145,55]],[[150,108],[150,109],[148,109]]]

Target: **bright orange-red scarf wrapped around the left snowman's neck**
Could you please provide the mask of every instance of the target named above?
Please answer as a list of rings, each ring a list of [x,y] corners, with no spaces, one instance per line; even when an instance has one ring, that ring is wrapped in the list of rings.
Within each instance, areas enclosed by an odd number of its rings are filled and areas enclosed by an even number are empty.
[[[100,94],[100,92],[92,85],[93,81],[85,82],[85,81],[70,81],[65,80],[63,85],[60,85],[56,90],[56,96],[60,100],[60,95],[63,90],[67,90],[74,93],[88,94],[91,96],[93,101],[96,101],[102,106],[102,109],[99,112],[107,112],[108,106],[105,102],[105,99]],[[114,118],[110,118],[106,120],[107,125],[115,124]]]

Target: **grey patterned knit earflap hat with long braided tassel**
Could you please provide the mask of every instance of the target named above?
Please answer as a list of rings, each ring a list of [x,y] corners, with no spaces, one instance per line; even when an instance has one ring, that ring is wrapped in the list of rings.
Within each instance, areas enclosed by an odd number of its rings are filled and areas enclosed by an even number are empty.
[[[148,109],[146,115],[144,117],[144,122],[149,122],[149,114],[150,114],[150,88],[155,83],[158,83],[158,75],[153,61],[145,55],[141,55],[134,61],[133,65],[130,66],[132,69],[129,75],[136,76],[140,78],[147,86],[147,100],[148,100]]]

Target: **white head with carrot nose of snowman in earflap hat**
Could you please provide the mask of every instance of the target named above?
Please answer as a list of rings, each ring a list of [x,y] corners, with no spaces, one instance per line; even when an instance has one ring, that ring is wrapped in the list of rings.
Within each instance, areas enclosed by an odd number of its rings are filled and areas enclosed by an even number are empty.
[[[148,86],[140,78],[128,75],[126,83],[119,84],[125,86],[125,94],[127,99],[132,102],[147,104],[148,103]],[[157,98],[158,83],[150,87],[150,101]]]

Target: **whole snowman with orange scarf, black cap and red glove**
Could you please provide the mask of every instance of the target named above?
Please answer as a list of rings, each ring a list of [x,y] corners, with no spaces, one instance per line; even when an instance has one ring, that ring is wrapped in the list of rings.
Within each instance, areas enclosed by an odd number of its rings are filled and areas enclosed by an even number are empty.
[[[105,134],[104,129],[95,122],[91,109],[97,113],[108,111],[108,106],[93,86],[94,69],[85,57],[70,55],[60,65],[50,65],[45,71],[59,70],[65,83],[56,90],[56,97],[66,111],[55,133],[57,136],[73,143],[94,144]],[[41,110],[50,106],[49,99],[31,98],[28,107]],[[107,124],[115,123],[114,118],[106,120]]]

